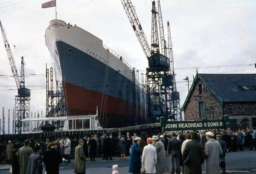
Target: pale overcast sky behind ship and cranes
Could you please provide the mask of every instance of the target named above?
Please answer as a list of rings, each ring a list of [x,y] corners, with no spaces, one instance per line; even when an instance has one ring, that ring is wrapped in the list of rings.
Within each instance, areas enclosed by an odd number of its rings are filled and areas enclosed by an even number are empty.
[[[45,113],[45,64],[51,65],[44,34],[55,8],[41,9],[47,0],[0,0],[0,20],[6,30],[15,62],[25,58],[31,89],[31,111]],[[148,41],[151,32],[151,0],[132,1]],[[256,1],[253,0],[162,0],[167,40],[170,21],[175,68],[256,63]],[[143,70],[147,59],[119,0],[57,0],[58,19],[91,32],[122,55],[132,67]],[[14,46],[16,49],[14,49]],[[198,69],[199,73],[256,73],[253,66]],[[195,69],[176,70],[180,105],[188,93],[183,78]],[[0,37],[0,75],[12,75]],[[191,84],[192,82],[190,82]],[[14,89],[9,90],[9,89]],[[0,76],[0,106],[14,108],[17,89],[13,77]],[[2,114],[0,114],[2,115]]]

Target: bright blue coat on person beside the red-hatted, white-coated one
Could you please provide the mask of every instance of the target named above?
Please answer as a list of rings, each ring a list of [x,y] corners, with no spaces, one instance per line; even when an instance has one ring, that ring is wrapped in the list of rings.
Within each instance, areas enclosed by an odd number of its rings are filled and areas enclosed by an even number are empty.
[[[141,153],[142,151],[140,150],[140,146],[134,142],[134,144],[131,147],[129,173],[140,174],[140,168],[141,168],[140,154]]]

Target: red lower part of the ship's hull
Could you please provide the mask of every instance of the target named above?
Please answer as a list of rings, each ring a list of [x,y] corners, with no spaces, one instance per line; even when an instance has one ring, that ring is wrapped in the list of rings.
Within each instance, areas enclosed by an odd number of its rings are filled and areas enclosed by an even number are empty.
[[[125,100],[64,83],[68,116],[96,114],[98,107],[99,122],[103,128],[125,127],[128,126],[128,120],[130,125],[134,125],[132,103],[129,103],[127,111]]]

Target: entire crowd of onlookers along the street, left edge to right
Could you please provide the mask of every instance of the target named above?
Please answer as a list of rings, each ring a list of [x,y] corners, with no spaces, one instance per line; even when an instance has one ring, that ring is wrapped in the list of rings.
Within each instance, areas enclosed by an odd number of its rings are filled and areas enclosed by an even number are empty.
[[[147,145],[140,148],[143,141],[136,133],[122,135],[121,132],[113,140],[112,134],[102,133],[91,136],[84,135],[75,148],[75,168],[77,174],[85,173],[85,162],[96,161],[96,157],[111,160],[114,149],[118,148],[120,159],[130,157],[129,173],[132,174],[163,174],[168,171],[166,156],[170,158],[170,172],[184,174],[202,173],[201,165],[205,162],[207,174],[225,173],[225,154],[227,152],[256,150],[256,129],[239,129],[232,131],[212,130],[192,131],[186,134],[173,133],[170,138],[163,135],[154,135],[146,139]],[[50,142],[38,139],[31,148],[29,140],[24,141],[24,146],[14,149],[11,141],[6,146],[6,162],[12,164],[13,174],[42,174],[44,164],[47,174],[58,174],[61,162],[70,163],[71,141],[68,136],[57,137]],[[175,167],[176,166],[176,167]],[[114,173],[116,172],[116,173]],[[113,173],[118,174],[118,166],[113,166]]]

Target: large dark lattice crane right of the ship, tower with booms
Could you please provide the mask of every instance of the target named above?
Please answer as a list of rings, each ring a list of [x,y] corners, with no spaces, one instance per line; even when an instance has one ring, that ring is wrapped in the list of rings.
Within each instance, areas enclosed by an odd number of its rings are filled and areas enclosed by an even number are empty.
[[[155,1],[152,1],[151,17],[151,47],[143,32],[140,21],[135,12],[131,0],[121,0],[127,17],[140,42],[140,45],[148,59],[146,69],[146,88],[148,100],[149,122],[157,122],[160,116],[166,119],[180,120],[180,114],[175,113],[173,99],[174,94],[174,73],[170,72],[170,57],[167,55],[166,41],[164,39],[163,18],[161,13],[160,0],[158,0],[158,10]],[[157,23],[158,20],[158,23]],[[160,29],[160,44],[159,33]],[[176,89],[176,87],[175,87]]]

